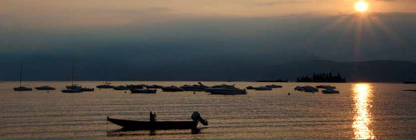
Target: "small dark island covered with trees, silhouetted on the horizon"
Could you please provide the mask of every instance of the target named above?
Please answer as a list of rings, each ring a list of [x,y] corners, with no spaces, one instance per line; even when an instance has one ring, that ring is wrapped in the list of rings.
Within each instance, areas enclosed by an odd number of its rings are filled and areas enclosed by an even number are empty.
[[[302,76],[296,79],[296,82],[328,82],[328,83],[346,83],[346,80],[341,77],[338,73],[336,76],[333,76],[331,72],[329,73],[313,73],[312,77]]]

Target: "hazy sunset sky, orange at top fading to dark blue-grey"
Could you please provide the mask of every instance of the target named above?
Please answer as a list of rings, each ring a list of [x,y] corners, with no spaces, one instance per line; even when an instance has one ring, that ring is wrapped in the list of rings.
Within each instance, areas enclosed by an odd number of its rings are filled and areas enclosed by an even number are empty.
[[[357,1],[1,0],[1,71],[416,62],[416,0]]]

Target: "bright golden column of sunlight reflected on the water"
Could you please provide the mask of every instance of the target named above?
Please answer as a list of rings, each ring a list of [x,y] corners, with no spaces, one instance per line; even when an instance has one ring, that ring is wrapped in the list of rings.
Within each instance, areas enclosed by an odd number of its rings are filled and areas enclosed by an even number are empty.
[[[352,87],[352,97],[354,99],[354,129],[353,139],[376,139],[373,130],[369,128],[372,122],[370,108],[372,107],[373,87],[371,84],[354,84]]]

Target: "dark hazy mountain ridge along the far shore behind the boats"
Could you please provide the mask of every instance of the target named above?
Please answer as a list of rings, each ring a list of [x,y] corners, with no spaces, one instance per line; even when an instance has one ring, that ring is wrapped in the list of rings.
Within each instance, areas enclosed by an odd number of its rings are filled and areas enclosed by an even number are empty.
[[[153,62],[155,63],[155,62]],[[165,63],[117,64],[109,63],[109,81],[269,81],[289,80],[312,76],[313,73],[339,73],[347,82],[404,82],[416,81],[416,63],[398,60],[371,60],[336,62],[330,60],[292,61],[285,64],[269,61],[267,64],[228,60],[208,62],[204,60],[183,62],[176,65]],[[1,63],[0,81],[17,81],[19,64]],[[51,64],[53,65],[53,64]],[[153,65],[153,66],[152,66]],[[155,67],[161,65],[163,67]],[[102,65],[93,62],[76,64],[77,81],[103,80]],[[72,65],[45,67],[37,63],[23,64],[23,80],[70,81]]]

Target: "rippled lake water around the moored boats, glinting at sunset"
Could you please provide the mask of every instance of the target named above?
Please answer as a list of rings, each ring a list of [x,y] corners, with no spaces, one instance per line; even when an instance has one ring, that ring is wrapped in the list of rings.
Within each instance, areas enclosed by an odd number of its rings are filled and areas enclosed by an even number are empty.
[[[296,86],[325,83],[203,82],[208,86],[282,85],[246,95],[205,92],[130,94],[96,88],[95,92],[61,93],[70,82],[24,82],[56,91],[15,92],[18,82],[0,82],[0,139],[415,139],[416,84],[337,83],[339,94],[295,92]],[[95,88],[102,82],[77,82]],[[192,85],[197,82],[112,82],[113,85]],[[291,93],[291,95],[288,95]],[[191,120],[199,111],[209,125],[191,130],[117,131],[106,117]],[[152,135],[150,135],[152,134]]]

